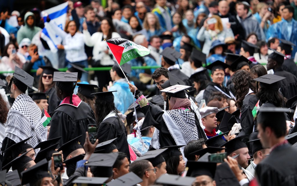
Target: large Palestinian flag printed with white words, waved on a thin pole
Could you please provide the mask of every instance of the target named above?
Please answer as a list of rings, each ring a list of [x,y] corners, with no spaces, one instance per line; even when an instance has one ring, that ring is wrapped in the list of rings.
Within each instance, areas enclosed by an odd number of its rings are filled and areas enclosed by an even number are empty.
[[[146,47],[123,38],[111,38],[106,40],[106,43],[119,65],[150,53]]]

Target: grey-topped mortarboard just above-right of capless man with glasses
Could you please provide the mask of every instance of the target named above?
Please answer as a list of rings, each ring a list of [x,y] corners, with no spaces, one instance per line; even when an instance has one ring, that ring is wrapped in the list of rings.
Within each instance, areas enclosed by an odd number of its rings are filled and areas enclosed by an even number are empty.
[[[153,166],[155,167],[165,162],[165,159],[163,158],[162,153],[164,153],[167,149],[168,148],[162,148],[154,151],[147,151],[142,156],[137,158],[135,161],[146,159],[146,160],[149,160],[151,164],[153,164]]]

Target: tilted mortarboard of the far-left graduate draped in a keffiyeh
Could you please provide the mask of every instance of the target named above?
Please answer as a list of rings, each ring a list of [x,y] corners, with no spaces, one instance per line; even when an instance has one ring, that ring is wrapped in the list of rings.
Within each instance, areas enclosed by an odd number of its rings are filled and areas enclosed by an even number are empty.
[[[5,93],[11,94],[11,84],[12,82],[20,89],[22,92],[26,92],[27,88],[33,87],[34,77],[29,75],[24,70],[20,69],[18,66],[15,66],[15,72],[13,73],[11,80],[6,87]]]

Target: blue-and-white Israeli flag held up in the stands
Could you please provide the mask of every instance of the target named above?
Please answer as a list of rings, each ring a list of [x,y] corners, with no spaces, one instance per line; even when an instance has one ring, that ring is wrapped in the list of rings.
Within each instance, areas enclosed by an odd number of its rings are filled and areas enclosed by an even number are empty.
[[[55,22],[55,24],[58,25],[61,30],[64,30],[67,18],[67,8],[68,2],[41,12],[41,16],[45,22],[44,28],[41,32],[41,38],[48,43],[50,51],[53,53],[58,51],[57,45],[61,44],[62,38],[56,34],[53,28],[50,27],[49,23],[46,22],[46,18],[49,16],[51,22]]]

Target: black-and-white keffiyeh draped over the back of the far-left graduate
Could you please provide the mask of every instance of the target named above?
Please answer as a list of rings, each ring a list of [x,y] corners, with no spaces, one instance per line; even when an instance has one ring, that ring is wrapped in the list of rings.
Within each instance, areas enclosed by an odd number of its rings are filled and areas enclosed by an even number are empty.
[[[15,143],[33,136],[27,143],[35,147],[47,139],[47,128],[41,122],[41,110],[36,103],[23,93],[11,107],[5,123],[5,135]],[[37,152],[36,152],[37,153]]]

